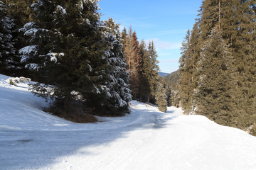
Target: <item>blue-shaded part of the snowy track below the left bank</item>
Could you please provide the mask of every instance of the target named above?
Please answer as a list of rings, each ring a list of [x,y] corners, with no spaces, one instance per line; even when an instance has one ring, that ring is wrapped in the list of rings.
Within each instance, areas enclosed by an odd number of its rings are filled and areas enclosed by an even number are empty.
[[[125,138],[133,130],[165,128],[166,122],[176,116],[164,116],[174,111],[156,111],[132,108],[132,114],[122,118],[112,128],[92,130],[43,131],[43,130],[0,130],[0,167],[5,169],[40,169],[58,162],[60,157],[72,154],[94,154],[90,147],[107,145],[119,138]],[[127,123],[126,117],[131,122]],[[122,125],[122,121],[126,121]],[[112,123],[112,120],[105,123]],[[98,125],[100,126],[101,123]],[[103,123],[104,124],[104,123]],[[95,125],[97,127],[97,125]],[[79,150],[82,149],[82,152]]]

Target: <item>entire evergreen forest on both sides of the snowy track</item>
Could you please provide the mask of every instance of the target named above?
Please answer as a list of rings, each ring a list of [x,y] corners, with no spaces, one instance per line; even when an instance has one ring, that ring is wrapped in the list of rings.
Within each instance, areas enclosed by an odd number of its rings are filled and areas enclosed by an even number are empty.
[[[129,101],[205,115],[256,135],[256,1],[204,0],[179,69],[159,76],[156,45],[102,21],[100,0],[0,0],[0,74],[28,77],[44,111],[78,123]]]

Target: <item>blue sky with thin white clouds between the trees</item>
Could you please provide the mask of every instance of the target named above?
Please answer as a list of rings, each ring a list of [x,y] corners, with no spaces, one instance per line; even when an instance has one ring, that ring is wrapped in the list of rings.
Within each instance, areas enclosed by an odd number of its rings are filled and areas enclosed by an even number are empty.
[[[101,0],[102,20],[112,17],[120,28],[136,31],[146,42],[154,40],[161,72],[178,69],[181,42],[193,28],[201,0]]]

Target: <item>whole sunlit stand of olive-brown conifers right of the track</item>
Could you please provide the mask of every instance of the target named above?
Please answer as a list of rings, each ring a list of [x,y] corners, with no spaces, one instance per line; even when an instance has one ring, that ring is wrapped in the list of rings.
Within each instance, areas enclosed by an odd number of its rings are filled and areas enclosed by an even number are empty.
[[[256,1],[205,0],[181,47],[186,113],[256,134]]]

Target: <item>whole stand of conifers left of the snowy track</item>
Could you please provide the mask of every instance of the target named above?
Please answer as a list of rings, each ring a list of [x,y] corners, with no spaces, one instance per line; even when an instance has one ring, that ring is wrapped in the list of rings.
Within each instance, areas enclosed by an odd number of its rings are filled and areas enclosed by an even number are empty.
[[[166,111],[154,42],[101,21],[98,2],[0,1],[1,74],[40,82],[30,90],[46,111],[70,120],[124,115],[132,98]]]

